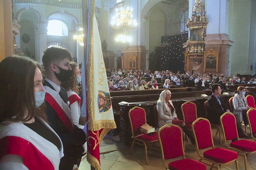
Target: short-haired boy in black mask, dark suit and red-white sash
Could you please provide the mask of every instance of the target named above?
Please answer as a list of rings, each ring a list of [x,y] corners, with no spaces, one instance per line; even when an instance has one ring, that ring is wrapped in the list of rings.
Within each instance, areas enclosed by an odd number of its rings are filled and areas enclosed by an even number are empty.
[[[73,124],[67,92],[60,86],[73,74],[70,67],[72,55],[64,48],[51,47],[44,51],[42,61],[46,71],[43,84],[46,90],[46,115],[64,147],[59,169],[72,170],[74,165],[79,166],[84,152],[82,145],[86,142],[84,131]]]

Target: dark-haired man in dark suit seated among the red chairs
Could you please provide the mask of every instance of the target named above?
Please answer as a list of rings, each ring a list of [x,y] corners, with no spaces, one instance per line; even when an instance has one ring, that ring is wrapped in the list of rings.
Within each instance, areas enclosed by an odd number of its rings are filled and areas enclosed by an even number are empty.
[[[212,95],[208,98],[207,107],[209,111],[208,120],[213,124],[220,123],[220,116],[227,112],[230,112],[225,102],[220,98],[221,95],[220,84],[212,84]]]

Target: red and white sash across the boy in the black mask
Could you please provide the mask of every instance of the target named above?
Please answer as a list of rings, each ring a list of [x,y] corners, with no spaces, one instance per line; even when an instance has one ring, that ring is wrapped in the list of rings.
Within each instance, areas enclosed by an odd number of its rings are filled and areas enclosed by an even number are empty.
[[[71,111],[58,92],[52,90],[48,86],[44,86],[46,90],[45,100],[52,106],[52,108],[56,111],[56,114],[60,117],[61,121],[66,125],[70,132],[73,132],[73,121],[71,117]]]

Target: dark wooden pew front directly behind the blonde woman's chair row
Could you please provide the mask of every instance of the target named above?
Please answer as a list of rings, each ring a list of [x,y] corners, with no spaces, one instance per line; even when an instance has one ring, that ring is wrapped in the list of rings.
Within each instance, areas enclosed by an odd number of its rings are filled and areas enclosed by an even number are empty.
[[[206,94],[208,96],[201,97],[201,94]],[[198,117],[206,117],[206,113],[204,111],[204,102],[210,97],[212,94],[211,90],[204,91],[195,91],[195,92],[172,92],[172,103],[176,109],[176,113],[179,119],[183,119],[182,112],[180,106],[186,102],[191,101],[194,102],[197,106]],[[230,97],[234,96],[234,94],[222,95],[222,99],[227,103]],[[136,98],[128,97],[126,101],[133,102],[120,102],[120,141],[126,143],[127,145],[131,143],[131,132],[130,132],[130,122],[128,118],[128,111],[134,106],[143,107],[146,110],[147,123],[150,125],[155,124],[154,117],[154,106],[157,103],[159,98],[158,95],[143,95],[142,97],[136,96]]]

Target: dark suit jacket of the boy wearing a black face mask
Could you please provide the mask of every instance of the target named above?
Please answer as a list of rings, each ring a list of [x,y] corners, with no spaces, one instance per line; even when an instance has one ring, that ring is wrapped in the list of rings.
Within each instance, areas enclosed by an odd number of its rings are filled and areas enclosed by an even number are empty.
[[[44,81],[44,86],[50,87],[55,90],[50,83]],[[68,102],[68,94],[66,90],[60,87],[60,92],[62,93],[64,102]],[[72,170],[74,164],[80,164],[82,157],[82,144],[86,141],[86,135],[82,129],[78,129],[74,125],[74,132],[70,132],[66,125],[61,121],[60,117],[55,112],[54,108],[46,102],[46,115],[48,118],[49,125],[54,129],[54,131],[59,135],[63,143],[64,157],[60,159],[60,170]]]

